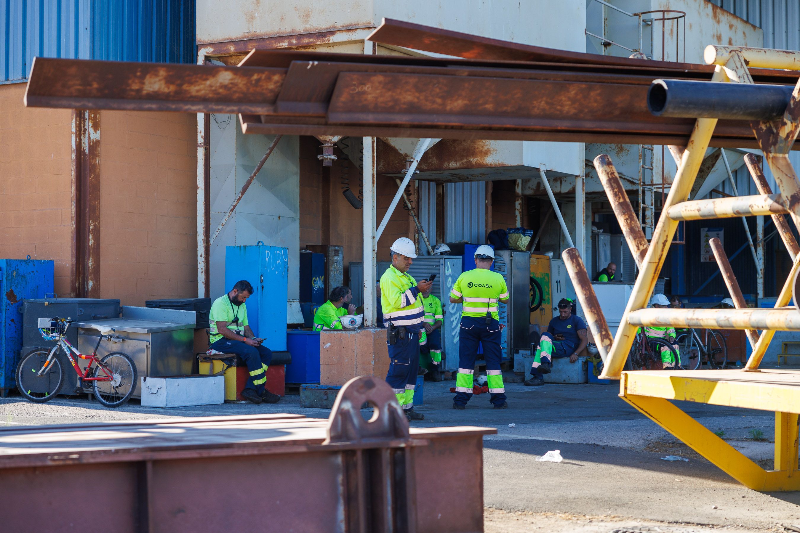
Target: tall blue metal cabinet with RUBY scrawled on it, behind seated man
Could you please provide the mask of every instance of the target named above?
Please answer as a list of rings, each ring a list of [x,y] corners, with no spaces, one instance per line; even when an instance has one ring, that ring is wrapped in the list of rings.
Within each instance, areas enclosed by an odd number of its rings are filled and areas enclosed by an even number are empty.
[[[278,246],[226,246],[225,287],[250,281],[247,320],[273,352],[286,351],[286,301],[289,295],[289,250]]]

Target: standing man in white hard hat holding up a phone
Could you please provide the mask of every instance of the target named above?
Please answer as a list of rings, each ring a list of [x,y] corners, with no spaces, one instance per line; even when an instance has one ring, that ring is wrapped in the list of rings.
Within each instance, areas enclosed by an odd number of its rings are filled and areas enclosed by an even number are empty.
[[[417,257],[414,242],[400,237],[390,248],[392,265],[381,276],[381,309],[383,324],[388,328],[389,373],[386,382],[394,390],[409,420],[423,420],[414,412],[414,388],[419,369],[419,331],[423,328],[425,310],[421,292],[430,291],[432,281],[417,283],[407,272]]]

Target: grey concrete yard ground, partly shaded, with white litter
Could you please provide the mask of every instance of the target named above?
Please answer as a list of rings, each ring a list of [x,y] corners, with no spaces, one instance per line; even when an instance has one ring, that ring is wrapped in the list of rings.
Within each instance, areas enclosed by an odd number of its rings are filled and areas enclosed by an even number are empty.
[[[800,493],[769,495],[742,487],[618,398],[615,385],[506,384],[510,408],[502,411],[490,408],[486,395],[474,396],[465,411],[452,409],[449,388],[453,386],[454,381],[426,383],[425,404],[417,408],[426,420],[414,425],[498,428],[498,435],[484,440],[487,531],[624,531],[625,527],[636,531],[636,526],[670,531],[663,529],[665,523],[692,525],[683,531],[706,531],[706,527],[786,531],[783,524],[800,525]],[[681,403],[681,407],[706,427],[725,432],[724,438],[746,455],[764,463],[772,457],[772,445],[756,442],[749,434],[760,430],[771,440],[772,413],[702,404]],[[86,399],[47,404],[30,404],[14,396],[0,399],[0,425],[243,412],[319,418],[329,414],[326,409],[301,408],[296,395],[274,405],[168,411],[142,408],[135,401],[106,409]],[[534,460],[550,450],[561,451],[562,463]],[[690,460],[667,462],[660,459],[665,455]]]

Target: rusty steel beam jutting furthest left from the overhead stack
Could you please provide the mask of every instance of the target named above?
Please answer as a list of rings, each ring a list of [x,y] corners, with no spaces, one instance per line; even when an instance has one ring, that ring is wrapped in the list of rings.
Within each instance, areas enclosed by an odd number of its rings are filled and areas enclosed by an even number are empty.
[[[34,58],[25,105],[271,113],[286,69]]]

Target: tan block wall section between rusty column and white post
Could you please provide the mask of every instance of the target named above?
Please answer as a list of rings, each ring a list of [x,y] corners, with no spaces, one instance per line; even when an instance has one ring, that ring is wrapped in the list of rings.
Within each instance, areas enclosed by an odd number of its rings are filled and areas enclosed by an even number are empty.
[[[190,113],[102,111],[100,293],[128,305],[197,296]]]

